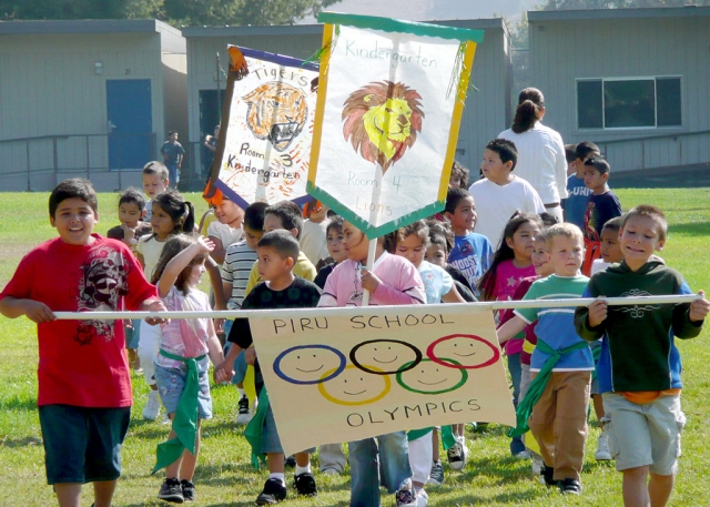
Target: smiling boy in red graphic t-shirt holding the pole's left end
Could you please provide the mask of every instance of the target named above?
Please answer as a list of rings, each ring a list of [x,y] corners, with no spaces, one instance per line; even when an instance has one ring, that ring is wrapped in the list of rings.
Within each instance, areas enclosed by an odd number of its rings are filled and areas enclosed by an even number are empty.
[[[95,507],[109,507],[133,403],[123,326],[121,321],[58,321],[53,312],[165,307],[129,247],[93,234],[99,213],[89,181],[57,185],[49,215],[59,237],[22,258],[0,293],[0,313],[38,324],[47,481],[54,485],[60,507],[79,507],[84,483],[93,483]]]

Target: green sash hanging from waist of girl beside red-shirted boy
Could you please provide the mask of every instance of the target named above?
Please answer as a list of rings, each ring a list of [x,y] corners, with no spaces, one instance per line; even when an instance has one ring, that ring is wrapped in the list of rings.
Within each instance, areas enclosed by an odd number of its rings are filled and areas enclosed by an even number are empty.
[[[160,354],[169,359],[181,361],[187,366],[187,375],[185,377],[185,391],[180,397],[180,403],[173,416],[173,432],[175,438],[158,444],[156,463],[153,471],[155,474],[161,468],[175,463],[183,450],[187,449],[190,454],[195,454],[195,442],[197,438],[197,395],[200,394],[200,378],[197,374],[197,361],[202,361],[205,356],[200,357],[181,357],[169,352],[160,349]]]

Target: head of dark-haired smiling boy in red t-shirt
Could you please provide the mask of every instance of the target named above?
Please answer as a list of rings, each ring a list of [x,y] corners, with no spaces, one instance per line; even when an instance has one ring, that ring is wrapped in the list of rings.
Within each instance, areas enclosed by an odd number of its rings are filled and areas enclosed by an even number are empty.
[[[64,243],[91,243],[99,222],[99,200],[91,182],[74,178],[54,186],[49,196],[49,221]]]

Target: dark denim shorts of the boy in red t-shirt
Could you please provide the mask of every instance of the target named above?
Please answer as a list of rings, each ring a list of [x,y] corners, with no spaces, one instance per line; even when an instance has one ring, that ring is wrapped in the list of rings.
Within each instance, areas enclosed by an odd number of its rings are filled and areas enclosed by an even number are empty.
[[[131,407],[39,407],[47,484],[94,483],[121,476],[121,445]]]

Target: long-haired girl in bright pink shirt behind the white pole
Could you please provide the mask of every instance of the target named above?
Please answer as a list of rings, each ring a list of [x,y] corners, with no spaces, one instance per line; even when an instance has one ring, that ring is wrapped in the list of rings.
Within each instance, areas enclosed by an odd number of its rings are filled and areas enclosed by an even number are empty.
[[[535,236],[540,232],[542,222],[539,216],[529,213],[516,213],[510,217],[503,232],[500,247],[494,255],[493,263],[478,282],[481,300],[509,301],[523,278],[535,276],[532,249]],[[505,311],[499,312],[503,317]],[[508,369],[513,379],[513,404],[518,405],[520,394],[520,353],[525,334],[508,341],[506,355]],[[518,458],[527,458],[528,453],[520,437],[510,442],[510,454]]]

